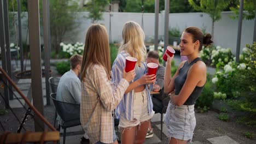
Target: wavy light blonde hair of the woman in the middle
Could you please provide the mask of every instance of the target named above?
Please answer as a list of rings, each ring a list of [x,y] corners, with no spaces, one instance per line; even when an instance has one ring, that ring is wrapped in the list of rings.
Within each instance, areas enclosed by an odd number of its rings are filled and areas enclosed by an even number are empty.
[[[126,51],[132,57],[137,58],[137,65],[146,58],[146,46],[144,44],[145,34],[138,23],[128,21],[122,31],[123,43],[119,47],[119,52]]]

